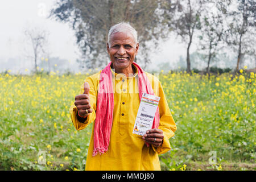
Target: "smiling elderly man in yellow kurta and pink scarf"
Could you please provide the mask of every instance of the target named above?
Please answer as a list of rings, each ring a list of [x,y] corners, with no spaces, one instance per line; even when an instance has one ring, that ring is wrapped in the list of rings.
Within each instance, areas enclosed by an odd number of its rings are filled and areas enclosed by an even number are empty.
[[[158,79],[144,72],[134,58],[137,32],[129,23],[109,30],[106,49],[110,63],[89,76],[71,106],[76,130],[93,122],[86,170],[160,170],[159,154],[171,149],[176,125]],[[142,93],[160,97],[152,129],[133,133]]]

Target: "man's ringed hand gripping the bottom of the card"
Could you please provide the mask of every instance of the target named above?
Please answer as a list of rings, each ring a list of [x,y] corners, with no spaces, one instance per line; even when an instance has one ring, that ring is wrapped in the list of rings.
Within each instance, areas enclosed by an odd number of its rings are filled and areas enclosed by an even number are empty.
[[[160,129],[150,129],[146,131],[146,134],[143,135],[142,139],[152,144],[154,147],[159,147],[163,143],[163,131]]]

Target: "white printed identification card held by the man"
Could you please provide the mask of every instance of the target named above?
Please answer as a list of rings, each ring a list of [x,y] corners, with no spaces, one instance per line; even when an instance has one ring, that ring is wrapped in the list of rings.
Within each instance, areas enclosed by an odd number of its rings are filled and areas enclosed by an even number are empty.
[[[133,133],[144,135],[153,125],[156,109],[158,108],[160,97],[143,93],[141,104],[133,127]]]

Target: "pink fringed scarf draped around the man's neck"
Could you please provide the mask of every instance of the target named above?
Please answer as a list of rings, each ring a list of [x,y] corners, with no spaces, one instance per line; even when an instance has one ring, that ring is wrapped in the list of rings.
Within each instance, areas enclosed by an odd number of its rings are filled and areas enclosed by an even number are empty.
[[[97,109],[96,109],[96,119],[94,122],[94,149],[93,156],[104,154],[108,151],[110,133],[112,130],[113,122],[113,110],[114,110],[114,92],[113,92],[113,82],[112,82],[112,72],[110,70],[110,62],[100,74],[100,82],[98,88],[97,97]],[[139,88],[139,100],[142,98],[142,93],[148,93],[154,95],[154,90],[150,82],[147,79],[146,74],[143,72],[138,64],[133,63],[138,69],[138,88]],[[156,109],[155,118],[153,122],[152,129],[158,128],[159,126],[159,108]],[[146,142],[146,145],[149,144]]]

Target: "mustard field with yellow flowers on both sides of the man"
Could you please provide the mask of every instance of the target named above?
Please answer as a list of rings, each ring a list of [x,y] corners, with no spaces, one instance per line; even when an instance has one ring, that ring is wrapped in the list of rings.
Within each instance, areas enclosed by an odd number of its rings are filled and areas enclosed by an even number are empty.
[[[177,125],[162,170],[255,170],[253,72],[159,74]],[[73,127],[69,107],[84,75],[0,75],[0,169],[84,170],[92,124]]]

